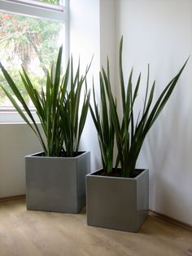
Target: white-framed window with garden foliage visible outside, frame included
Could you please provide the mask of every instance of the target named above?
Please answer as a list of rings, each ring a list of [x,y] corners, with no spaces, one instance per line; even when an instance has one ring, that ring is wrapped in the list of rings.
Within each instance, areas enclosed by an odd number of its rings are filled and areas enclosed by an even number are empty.
[[[20,81],[21,65],[39,88],[45,85],[46,68],[50,67],[63,44],[68,58],[68,2],[60,0],[0,0],[0,60],[32,107]],[[0,73],[0,82],[5,79]],[[2,114],[10,119],[15,109],[0,89]]]

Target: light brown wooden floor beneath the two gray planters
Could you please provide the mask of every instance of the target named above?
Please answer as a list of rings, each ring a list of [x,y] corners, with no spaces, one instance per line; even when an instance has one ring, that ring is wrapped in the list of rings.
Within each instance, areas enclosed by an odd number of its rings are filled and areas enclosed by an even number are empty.
[[[192,233],[149,216],[140,232],[86,225],[81,214],[26,210],[24,200],[0,203],[0,256],[192,255]]]

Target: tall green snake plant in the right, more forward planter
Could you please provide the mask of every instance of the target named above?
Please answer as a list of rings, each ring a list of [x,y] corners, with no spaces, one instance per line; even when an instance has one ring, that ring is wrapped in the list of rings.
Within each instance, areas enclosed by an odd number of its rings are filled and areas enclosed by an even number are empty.
[[[122,68],[122,49],[123,49],[123,37],[120,40],[120,51],[119,51],[119,73],[120,73],[120,115],[116,108],[116,97],[111,90],[110,82],[110,68],[107,61],[107,71],[102,68],[100,73],[100,87],[101,90],[101,111],[98,112],[98,107],[95,102],[94,96],[94,108],[90,107],[92,117],[94,119],[94,125],[98,130],[98,140],[101,148],[102,159],[103,159],[103,169],[106,172],[112,172],[111,168],[111,157],[107,159],[107,150],[113,147],[113,139],[109,143],[105,140],[108,139],[109,134],[115,130],[116,135],[116,147],[117,147],[117,157],[116,157],[116,167],[120,163],[121,176],[133,178],[135,176],[135,166],[137,162],[137,157],[142,148],[144,139],[147,133],[154,124],[159,113],[161,113],[165,104],[168,102],[172,90],[177,85],[177,81],[181,76],[185,64],[182,66],[181,70],[175,77],[172,78],[171,82],[165,86],[159,98],[156,100],[155,104],[151,109],[151,104],[153,102],[153,96],[155,91],[155,82],[153,82],[151,89],[149,85],[149,67],[146,82],[146,92],[144,96],[144,104],[142,110],[135,117],[134,107],[137,99],[137,94],[140,88],[141,73],[137,77],[136,85],[133,86],[133,70],[129,74],[129,82],[127,88],[125,89],[124,84],[124,73]],[[117,89],[119,89],[117,87]],[[107,96],[105,96],[105,91]],[[103,100],[104,99],[104,100]],[[106,105],[108,105],[108,109]],[[107,118],[108,111],[108,118]],[[120,118],[122,116],[122,118]],[[109,127],[111,127],[111,133],[109,132]],[[112,136],[111,136],[112,137]],[[110,138],[111,138],[110,137]],[[107,140],[108,141],[108,140]],[[107,149],[106,149],[107,148]],[[110,159],[110,161],[108,161]]]

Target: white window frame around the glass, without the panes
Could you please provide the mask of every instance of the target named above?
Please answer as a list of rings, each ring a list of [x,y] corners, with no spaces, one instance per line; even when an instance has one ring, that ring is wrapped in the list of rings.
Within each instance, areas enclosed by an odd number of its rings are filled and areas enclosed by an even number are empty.
[[[0,0],[0,11],[25,15],[41,20],[54,20],[63,22],[65,25],[65,63],[68,62],[69,56],[69,0],[64,0],[65,5],[61,7],[46,2],[37,2],[35,0]],[[34,108],[30,108],[34,118],[38,121],[37,114]],[[14,107],[0,108],[0,124],[3,123],[24,123],[20,114],[16,112]]]

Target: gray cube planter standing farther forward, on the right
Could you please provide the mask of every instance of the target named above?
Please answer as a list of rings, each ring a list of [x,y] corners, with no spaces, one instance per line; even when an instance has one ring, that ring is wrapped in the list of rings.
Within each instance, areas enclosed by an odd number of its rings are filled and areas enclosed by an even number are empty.
[[[136,178],[86,176],[87,223],[137,232],[148,215],[149,171]]]

